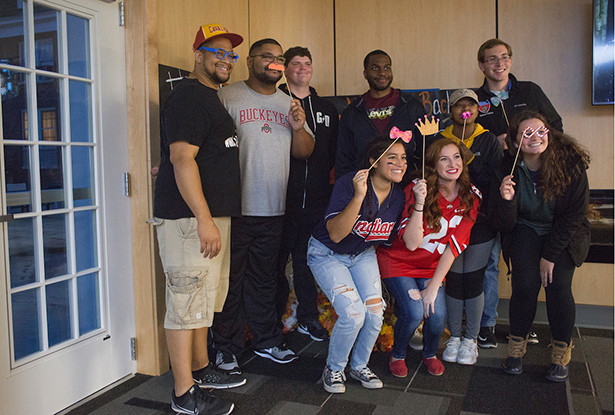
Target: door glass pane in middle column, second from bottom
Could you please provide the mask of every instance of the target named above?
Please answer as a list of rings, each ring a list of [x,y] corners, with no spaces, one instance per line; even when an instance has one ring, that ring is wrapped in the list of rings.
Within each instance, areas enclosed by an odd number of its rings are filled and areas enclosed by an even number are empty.
[[[66,215],[43,216],[45,279],[68,273],[66,256]]]

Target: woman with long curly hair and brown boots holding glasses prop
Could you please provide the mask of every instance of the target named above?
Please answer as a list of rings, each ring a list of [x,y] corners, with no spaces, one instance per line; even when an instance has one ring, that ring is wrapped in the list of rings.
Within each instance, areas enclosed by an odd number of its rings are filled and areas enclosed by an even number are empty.
[[[553,336],[546,377],[564,382],[575,320],[572,276],[589,250],[589,154],[530,111],[515,116],[506,140],[509,150],[492,185],[490,205],[502,232],[504,259],[512,265],[509,357],[503,369],[515,375],[523,371],[527,335],[543,286]]]

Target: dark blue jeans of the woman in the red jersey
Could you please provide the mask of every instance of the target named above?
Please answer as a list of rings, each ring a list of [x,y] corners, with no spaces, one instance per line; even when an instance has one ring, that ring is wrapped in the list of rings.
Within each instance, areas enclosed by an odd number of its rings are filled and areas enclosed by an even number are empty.
[[[406,357],[408,342],[421,321],[423,321],[423,301],[420,291],[427,288],[430,278],[394,277],[385,278],[384,285],[395,298],[395,335],[392,356],[396,359]],[[440,285],[434,304],[435,313],[430,314],[423,323],[423,356],[434,357],[440,336],[446,326],[446,298],[444,286]]]

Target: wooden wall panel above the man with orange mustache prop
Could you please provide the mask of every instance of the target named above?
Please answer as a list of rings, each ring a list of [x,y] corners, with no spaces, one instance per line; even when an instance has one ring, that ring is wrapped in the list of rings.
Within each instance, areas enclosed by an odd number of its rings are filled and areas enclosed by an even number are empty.
[[[314,68],[311,85],[319,95],[334,95],[333,0],[250,0],[249,3],[249,43],[270,37],[280,42],[284,50],[307,47]]]

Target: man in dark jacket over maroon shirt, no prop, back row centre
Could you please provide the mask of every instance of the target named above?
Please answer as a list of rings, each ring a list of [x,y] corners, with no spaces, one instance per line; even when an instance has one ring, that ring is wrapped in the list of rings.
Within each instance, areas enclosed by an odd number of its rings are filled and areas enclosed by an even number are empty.
[[[388,135],[393,126],[402,131],[412,130],[412,141],[406,144],[407,177],[411,170],[420,168],[422,136],[414,124],[423,118],[425,108],[416,98],[391,88],[393,69],[386,52],[368,53],[363,68],[369,91],[348,105],[340,118],[335,177],[361,168],[367,143],[378,135]]]

